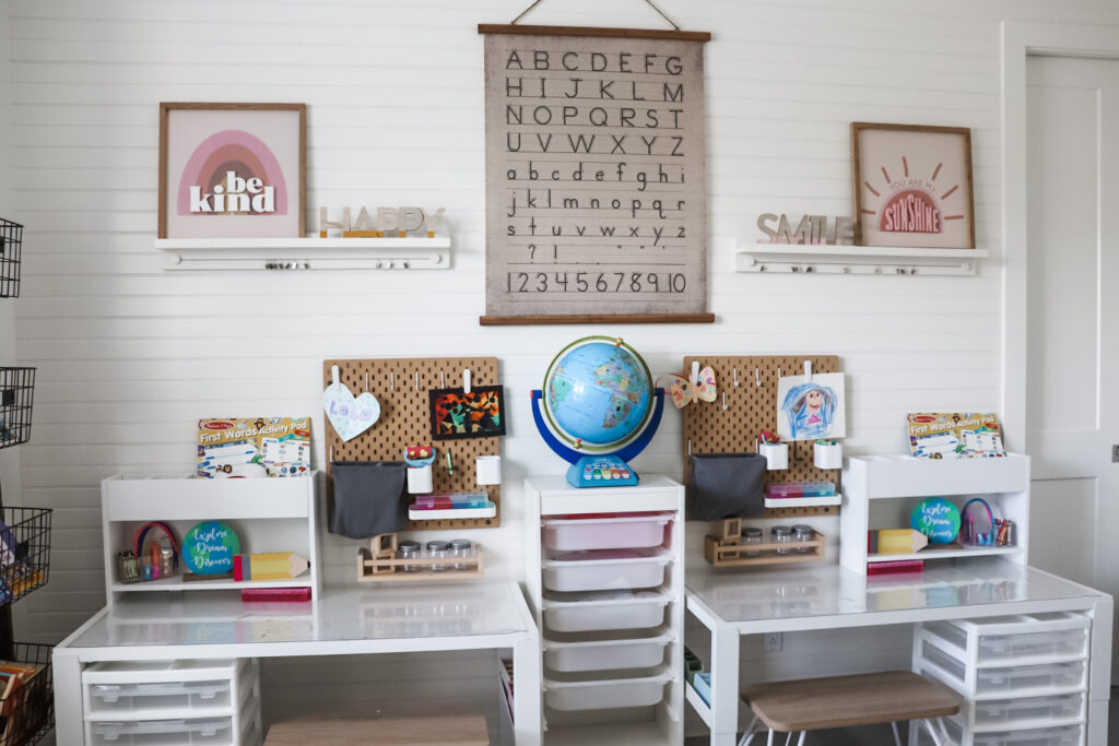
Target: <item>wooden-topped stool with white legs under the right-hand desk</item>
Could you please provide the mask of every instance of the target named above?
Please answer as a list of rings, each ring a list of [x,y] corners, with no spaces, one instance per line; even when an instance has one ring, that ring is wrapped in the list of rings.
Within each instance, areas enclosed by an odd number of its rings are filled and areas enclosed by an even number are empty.
[[[937,746],[948,746],[951,739],[941,718],[960,711],[956,697],[911,671],[755,684],[743,689],[742,699],[754,711],[754,719],[739,746],[749,746],[765,727],[769,746],[773,746],[777,731],[789,734],[786,746],[799,733],[797,746],[803,746],[809,730],[877,723],[891,724],[894,742],[901,746],[899,720],[919,720],[919,727],[928,729]]]

